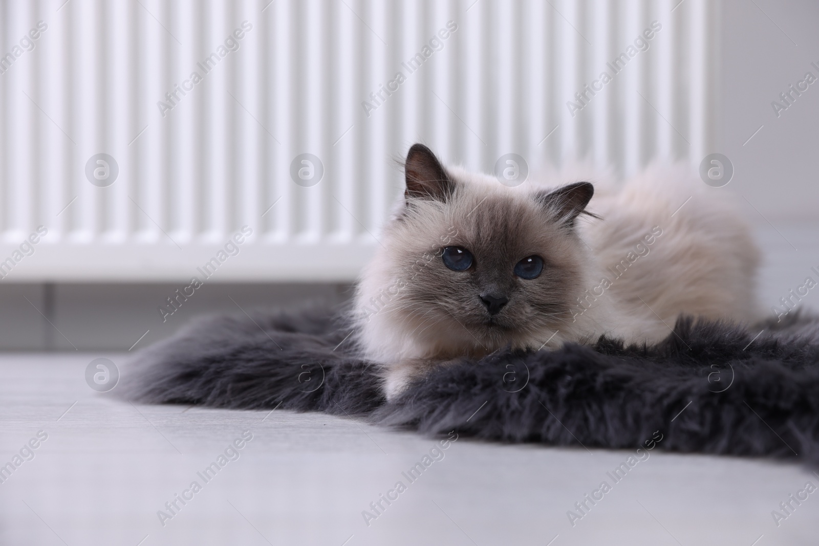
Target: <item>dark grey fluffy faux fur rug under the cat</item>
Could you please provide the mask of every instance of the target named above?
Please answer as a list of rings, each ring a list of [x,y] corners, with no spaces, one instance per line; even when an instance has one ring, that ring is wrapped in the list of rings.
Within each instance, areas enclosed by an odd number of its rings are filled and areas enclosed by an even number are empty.
[[[439,368],[387,403],[343,316],[319,307],[200,319],[138,353],[120,395],[586,448],[636,448],[660,431],[661,449],[819,463],[817,318],[755,331],[681,318],[654,346],[602,337],[498,351]]]

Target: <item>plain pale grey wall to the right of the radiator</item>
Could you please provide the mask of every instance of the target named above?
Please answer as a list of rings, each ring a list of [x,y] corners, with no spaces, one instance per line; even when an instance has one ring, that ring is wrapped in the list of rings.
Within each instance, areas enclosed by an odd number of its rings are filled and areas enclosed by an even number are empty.
[[[726,0],[721,22],[722,134],[715,151],[735,167],[726,189],[738,194],[755,223],[817,223],[819,81],[778,118],[771,102],[808,71],[819,79],[811,65],[819,65],[819,2]]]

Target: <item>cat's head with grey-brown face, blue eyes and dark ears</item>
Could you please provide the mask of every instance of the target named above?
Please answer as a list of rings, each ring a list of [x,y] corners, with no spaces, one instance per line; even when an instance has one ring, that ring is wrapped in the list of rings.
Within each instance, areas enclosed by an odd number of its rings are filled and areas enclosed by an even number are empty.
[[[360,287],[367,321],[405,328],[441,357],[532,346],[572,322],[588,259],[575,221],[590,183],[506,187],[447,169],[420,144],[405,178],[403,206]]]

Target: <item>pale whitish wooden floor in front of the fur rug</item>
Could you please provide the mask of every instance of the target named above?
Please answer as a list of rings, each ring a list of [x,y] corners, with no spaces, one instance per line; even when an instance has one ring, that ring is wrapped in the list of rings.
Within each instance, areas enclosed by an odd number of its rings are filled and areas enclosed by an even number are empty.
[[[0,356],[0,464],[38,431],[48,434],[0,484],[0,544],[819,540],[819,492],[780,526],[771,517],[807,481],[819,485],[819,476],[796,465],[654,451],[614,483],[607,472],[630,452],[459,439],[410,483],[402,472],[422,462],[435,440],[320,414],[134,407],[88,388],[84,370],[97,356]],[[197,475],[243,431],[252,440],[236,460],[209,482]],[[177,501],[181,509],[163,526],[157,511],[192,481],[201,490],[184,506]],[[367,526],[362,511],[397,481],[406,490],[389,506],[382,501],[385,509]],[[567,511],[602,481],[612,490],[572,527]]]

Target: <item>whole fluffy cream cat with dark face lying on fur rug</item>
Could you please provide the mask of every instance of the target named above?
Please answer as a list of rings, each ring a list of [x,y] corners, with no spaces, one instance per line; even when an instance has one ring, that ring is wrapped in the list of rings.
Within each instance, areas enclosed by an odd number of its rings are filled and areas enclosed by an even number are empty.
[[[758,318],[758,250],[685,167],[506,187],[415,144],[406,191],[355,294],[358,344],[387,398],[462,356],[607,334],[668,336],[680,314]],[[577,178],[574,178],[577,180]]]

